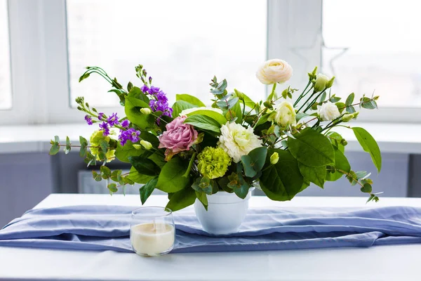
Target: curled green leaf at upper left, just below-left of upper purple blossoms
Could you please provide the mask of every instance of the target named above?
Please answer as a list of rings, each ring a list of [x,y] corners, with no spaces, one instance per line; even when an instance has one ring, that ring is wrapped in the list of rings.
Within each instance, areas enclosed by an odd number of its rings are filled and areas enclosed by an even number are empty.
[[[149,105],[145,103],[144,100],[135,98],[130,94],[126,97],[124,112],[126,113],[127,119],[142,130],[147,129],[154,124],[153,115],[145,115],[140,112],[140,110],[145,107],[150,109]]]

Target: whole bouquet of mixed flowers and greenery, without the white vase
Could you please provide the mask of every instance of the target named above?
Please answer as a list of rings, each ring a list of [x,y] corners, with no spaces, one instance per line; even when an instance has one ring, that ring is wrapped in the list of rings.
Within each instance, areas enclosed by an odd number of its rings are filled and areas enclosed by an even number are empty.
[[[300,94],[290,86],[278,93],[276,86],[288,81],[293,69],[283,60],[267,60],[256,76],[272,85],[272,91],[258,102],[237,89],[227,91],[227,81],[213,77],[211,107],[187,94],[176,95],[170,107],[166,93],[152,84],[142,65],[135,67],[142,86],[129,82],[126,89],[100,67],[86,69],[79,81],[91,74],[102,76],[119,97],[126,117],[98,112],[76,98],[87,124],[98,123],[99,129],[90,143],[80,137],[80,145],[72,145],[68,137],[60,144],[56,136],[50,154],[60,147],[66,153],[80,147],[88,166],[103,162],[93,178],[106,180],[111,193],[141,183],[142,204],[157,188],[168,193],[167,207],[176,211],[196,198],[207,208],[207,196],[220,191],[245,198],[252,186],[272,200],[291,200],[310,183],[323,188],[326,181],[345,176],[369,195],[368,201],[378,200],[369,174],[351,169],[344,154],[347,141],[334,129],[354,131],[380,171],[382,158],[375,139],[363,128],[346,125],[359,115],[356,106],[375,109],[379,97],[363,96],[354,103],[351,93],[343,103],[331,93],[335,77],[316,74],[317,67],[308,73]],[[111,171],[107,163],[115,158],[130,163],[130,172]]]

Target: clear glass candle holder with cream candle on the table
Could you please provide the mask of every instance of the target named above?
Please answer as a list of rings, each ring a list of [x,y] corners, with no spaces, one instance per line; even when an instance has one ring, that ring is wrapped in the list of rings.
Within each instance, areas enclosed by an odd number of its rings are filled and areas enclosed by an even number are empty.
[[[174,247],[173,211],[164,207],[140,207],[132,212],[130,240],[141,256],[161,256]]]

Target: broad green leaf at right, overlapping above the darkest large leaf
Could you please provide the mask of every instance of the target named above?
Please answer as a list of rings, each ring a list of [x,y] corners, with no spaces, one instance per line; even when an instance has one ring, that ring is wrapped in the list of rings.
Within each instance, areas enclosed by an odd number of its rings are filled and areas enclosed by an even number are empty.
[[[288,138],[288,150],[300,163],[307,166],[323,166],[335,162],[333,147],[326,136],[306,128]]]

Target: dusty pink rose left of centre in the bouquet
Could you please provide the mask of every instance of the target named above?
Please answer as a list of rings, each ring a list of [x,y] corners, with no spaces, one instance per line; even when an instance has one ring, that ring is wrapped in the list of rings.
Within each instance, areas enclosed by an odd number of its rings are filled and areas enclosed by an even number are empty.
[[[166,125],[166,131],[159,136],[158,148],[166,148],[166,155],[189,150],[196,141],[197,131],[192,125],[183,123],[186,118],[187,116],[175,118]]]

